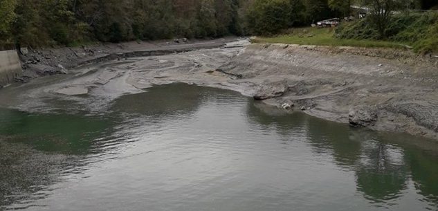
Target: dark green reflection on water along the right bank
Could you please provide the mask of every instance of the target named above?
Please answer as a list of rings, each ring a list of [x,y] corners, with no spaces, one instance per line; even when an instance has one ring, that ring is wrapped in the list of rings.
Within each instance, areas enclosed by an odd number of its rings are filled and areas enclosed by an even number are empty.
[[[354,172],[357,190],[376,206],[394,205],[410,180],[424,197],[421,201],[438,206],[438,144],[431,140],[352,128],[301,112],[285,114],[259,102],[248,104],[248,116],[259,127],[284,136],[297,130],[307,133],[313,152],[331,156],[336,165]]]

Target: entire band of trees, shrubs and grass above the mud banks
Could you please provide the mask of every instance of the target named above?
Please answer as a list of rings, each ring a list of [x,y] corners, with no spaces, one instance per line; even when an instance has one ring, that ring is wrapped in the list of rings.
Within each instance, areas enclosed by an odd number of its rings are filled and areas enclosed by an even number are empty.
[[[374,8],[366,19],[301,35],[288,28]],[[437,51],[435,0],[1,0],[0,44],[75,46],[88,42],[263,35],[267,42],[413,46]],[[299,32],[299,30],[298,30]],[[310,35],[310,36],[309,36]],[[262,41],[262,39],[259,39]]]

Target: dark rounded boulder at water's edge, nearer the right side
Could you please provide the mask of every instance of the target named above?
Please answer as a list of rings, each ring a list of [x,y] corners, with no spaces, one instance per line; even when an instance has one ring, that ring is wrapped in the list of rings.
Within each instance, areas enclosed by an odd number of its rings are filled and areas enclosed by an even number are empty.
[[[374,125],[377,120],[375,107],[359,106],[350,109],[348,120],[351,125],[367,127]]]

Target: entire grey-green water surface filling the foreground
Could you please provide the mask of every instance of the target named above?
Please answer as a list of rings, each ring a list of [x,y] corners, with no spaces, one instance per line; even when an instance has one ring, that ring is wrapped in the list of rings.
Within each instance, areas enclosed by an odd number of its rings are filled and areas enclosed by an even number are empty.
[[[0,210],[438,210],[435,143],[184,84],[0,109],[0,171]]]

